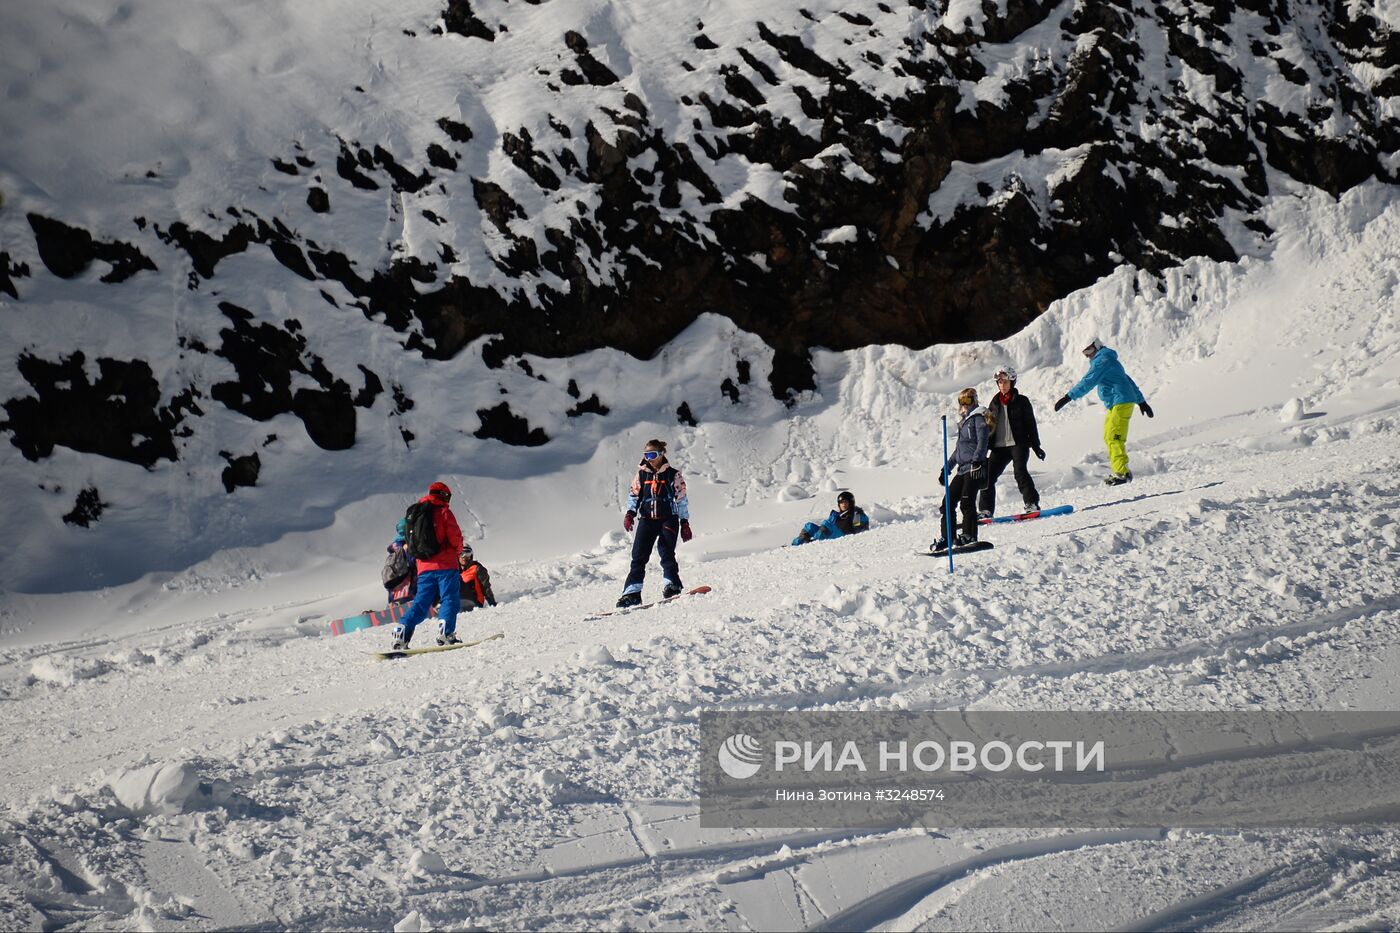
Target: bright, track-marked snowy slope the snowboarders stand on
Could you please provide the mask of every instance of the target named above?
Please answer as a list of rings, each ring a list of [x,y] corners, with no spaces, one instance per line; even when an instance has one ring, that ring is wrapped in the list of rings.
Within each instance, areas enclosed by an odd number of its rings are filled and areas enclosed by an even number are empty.
[[[1266,258],[1124,272],[1000,343],[825,354],[792,412],[672,431],[704,597],[581,622],[620,590],[610,530],[645,422],[543,476],[461,478],[503,598],[463,616],[505,633],[476,649],[372,664],[384,632],[328,636],[378,597],[395,495],[179,573],[7,597],[7,926],[1400,925],[1389,829],[696,820],[703,709],[1394,707],[1400,203],[1299,191],[1267,219]],[[1119,489],[1098,482],[1099,408],[1049,410],[1093,335],[1158,412]],[[596,378],[624,366],[605,357]],[[934,535],[937,417],[1004,361],[1040,412],[1043,499],[1077,511],[991,530],[949,576],[911,553]],[[869,534],[778,546],[847,485]]]

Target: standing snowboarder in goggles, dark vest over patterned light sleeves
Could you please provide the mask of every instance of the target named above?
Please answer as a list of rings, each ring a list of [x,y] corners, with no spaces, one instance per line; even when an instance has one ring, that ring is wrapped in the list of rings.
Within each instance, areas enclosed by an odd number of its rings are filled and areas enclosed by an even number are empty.
[[[666,461],[666,441],[650,440],[643,448],[637,475],[627,492],[627,513],[622,518],[624,531],[637,530],[631,542],[631,572],[623,587],[617,608],[641,605],[641,583],[647,576],[651,549],[661,551],[661,573],[665,587],[661,597],[679,595],[680,567],[676,563],[676,539],[690,541],[690,502],[686,499],[686,478]]]

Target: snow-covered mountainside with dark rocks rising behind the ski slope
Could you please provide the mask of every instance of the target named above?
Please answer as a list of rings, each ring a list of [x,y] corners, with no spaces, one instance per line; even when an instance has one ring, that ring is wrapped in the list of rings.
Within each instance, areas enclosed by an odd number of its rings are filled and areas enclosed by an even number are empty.
[[[0,583],[29,591],[643,423],[774,424],[836,403],[816,347],[1009,338],[1116,269],[1169,290],[1268,255],[1271,195],[1400,171],[1386,4],[3,15],[3,531],[52,549]]]

